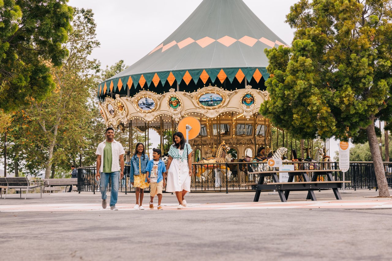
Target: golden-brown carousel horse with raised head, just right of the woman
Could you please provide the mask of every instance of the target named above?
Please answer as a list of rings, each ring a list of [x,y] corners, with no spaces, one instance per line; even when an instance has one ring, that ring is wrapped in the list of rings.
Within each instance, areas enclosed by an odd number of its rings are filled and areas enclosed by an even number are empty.
[[[216,164],[216,163],[225,163],[226,152],[229,150],[229,146],[227,146],[226,142],[223,141],[217,151],[216,157],[211,158],[203,158],[195,163],[203,163],[203,165],[197,165],[193,169],[193,174],[196,175],[197,178],[200,177],[205,181],[209,174],[212,174],[212,170],[215,171],[216,177],[219,175],[218,172],[227,171],[228,177],[231,178],[231,171],[229,168],[226,168],[225,164]],[[197,169],[197,170],[196,170]],[[208,171],[208,174],[205,175],[204,173]],[[217,179],[216,179],[217,180]]]

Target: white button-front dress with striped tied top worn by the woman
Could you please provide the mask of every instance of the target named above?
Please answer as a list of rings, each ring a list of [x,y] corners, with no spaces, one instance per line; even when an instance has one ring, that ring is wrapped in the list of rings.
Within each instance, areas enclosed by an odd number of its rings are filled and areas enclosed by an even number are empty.
[[[187,146],[187,143],[185,143],[185,146]],[[188,147],[188,154],[192,152],[192,149],[189,150],[190,147],[191,146]],[[183,149],[177,150],[179,155],[183,155]],[[167,171],[166,192],[176,192],[183,190],[191,191],[191,176],[189,176],[188,160],[183,159],[181,161],[181,158],[173,158],[169,170]]]

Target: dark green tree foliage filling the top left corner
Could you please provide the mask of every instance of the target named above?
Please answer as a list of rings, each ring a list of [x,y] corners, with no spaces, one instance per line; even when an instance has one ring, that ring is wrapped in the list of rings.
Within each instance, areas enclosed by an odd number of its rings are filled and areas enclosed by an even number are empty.
[[[60,66],[68,55],[62,44],[73,9],[66,2],[0,1],[0,108],[42,101],[53,90],[49,64]]]

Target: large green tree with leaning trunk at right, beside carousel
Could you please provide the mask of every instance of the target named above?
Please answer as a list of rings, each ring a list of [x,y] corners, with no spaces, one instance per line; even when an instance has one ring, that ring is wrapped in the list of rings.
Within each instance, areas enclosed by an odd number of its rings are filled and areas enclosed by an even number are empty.
[[[379,196],[389,196],[379,119],[392,122],[392,10],[387,0],[300,0],[292,47],[265,50],[270,101],[260,112],[304,139],[369,141]]]

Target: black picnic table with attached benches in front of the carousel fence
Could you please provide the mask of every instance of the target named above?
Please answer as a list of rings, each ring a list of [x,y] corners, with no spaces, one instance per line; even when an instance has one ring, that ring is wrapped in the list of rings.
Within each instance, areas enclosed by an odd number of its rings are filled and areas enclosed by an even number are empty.
[[[245,186],[251,186],[256,190],[254,195],[254,202],[258,202],[262,190],[276,190],[278,191],[280,200],[287,202],[290,191],[308,191],[307,199],[316,200],[314,189],[332,189],[337,200],[341,200],[338,188],[341,188],[343,183],[350,183],[350,181],[335,181],[332,173],[341,171],[340,169],[324,169],[324,170],[294,170],[294,171],[257,171],[248,172],[248,175],[259,175],[258,183],[246,183]],[[277,173],[289,173],[288,182],[279,182]],[[308,173],[313,173],[312,180],[309,180]],[[320,175],[326,175],[328,181],[317,181]],[[274,182],[263,184],[264,178],[272,176]],[[294,182],[294,176],[302,176],[303,182]],[[284,191],[284,192],[283,192]]]

